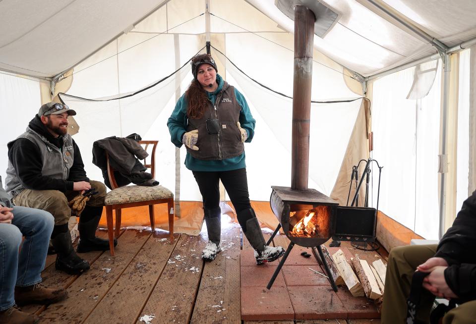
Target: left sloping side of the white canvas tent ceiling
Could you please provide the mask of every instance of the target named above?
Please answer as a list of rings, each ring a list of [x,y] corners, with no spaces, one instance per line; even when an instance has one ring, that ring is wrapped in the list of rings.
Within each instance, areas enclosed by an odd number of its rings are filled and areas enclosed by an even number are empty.
[[[0,69],[54,76],[166,0],[0,0]]]

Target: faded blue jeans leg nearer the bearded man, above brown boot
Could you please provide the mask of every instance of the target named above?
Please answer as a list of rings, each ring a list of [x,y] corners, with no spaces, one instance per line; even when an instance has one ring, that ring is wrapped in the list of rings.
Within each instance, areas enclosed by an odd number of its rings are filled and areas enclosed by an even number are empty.
[[[18,256],[16,286],[31,286],[41,282],[55,219],[46,211],[21,206],[14,206],[12,213],[11,223],[25,236]]]

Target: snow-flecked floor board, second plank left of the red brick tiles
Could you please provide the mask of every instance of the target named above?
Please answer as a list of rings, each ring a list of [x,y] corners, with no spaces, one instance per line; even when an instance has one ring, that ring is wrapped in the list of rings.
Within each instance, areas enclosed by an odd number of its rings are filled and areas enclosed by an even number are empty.
[[[188,323],[203,270],[200,254],[207,241],[202,235],[180,236],[141,317],[154,316],[160,319],[157,323]]]

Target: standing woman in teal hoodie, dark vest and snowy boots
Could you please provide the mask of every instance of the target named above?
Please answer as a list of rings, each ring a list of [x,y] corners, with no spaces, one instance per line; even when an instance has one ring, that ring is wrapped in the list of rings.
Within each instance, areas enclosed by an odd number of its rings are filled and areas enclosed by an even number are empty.
[[[212,261],[221,251],[219,180],[222,180],[243,233],[258,265],[284,254],[281,246],[266,246],[258,219],[249,203],[243,142],[251,142],[255,120],[243,95],[217,74],[209,54],[191,60],[193,81],[170,116],[172,143],[185,144],[185,166],[193,172],[203,199],[209,242],[202,259]]]

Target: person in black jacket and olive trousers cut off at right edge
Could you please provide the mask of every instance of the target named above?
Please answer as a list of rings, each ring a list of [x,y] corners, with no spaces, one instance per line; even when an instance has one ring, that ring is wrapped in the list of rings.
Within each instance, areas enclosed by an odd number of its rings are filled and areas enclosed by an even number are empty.
[[[407,323],[407,298],[415,270],[429,272],[416,305],[416,323],[429,323],[435,296],[459,304],[446,313],[443,324],[476,323],[476,191],[463,203],[438,245],[392,249],[385,277],[382,324]]]

